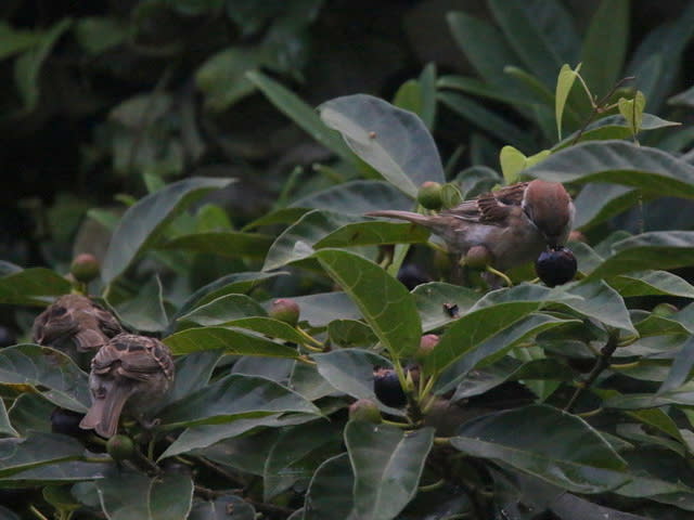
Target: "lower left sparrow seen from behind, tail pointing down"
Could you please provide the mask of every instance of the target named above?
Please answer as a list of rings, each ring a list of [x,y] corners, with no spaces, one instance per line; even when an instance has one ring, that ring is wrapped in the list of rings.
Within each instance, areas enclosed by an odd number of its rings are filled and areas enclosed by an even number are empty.
[[[91,361],[92,403],[79,427],[108,439],[121,413],[151,427],[144,416],[171,387],[174,372],[171,352],[158,339],[126,333],[112,338]]]

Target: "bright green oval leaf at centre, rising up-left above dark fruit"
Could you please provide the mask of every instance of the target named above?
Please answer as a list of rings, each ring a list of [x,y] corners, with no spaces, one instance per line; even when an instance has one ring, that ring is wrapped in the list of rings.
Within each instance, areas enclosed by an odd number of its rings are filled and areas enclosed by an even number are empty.
[[[367,323],[396,360],[416,351],[422,324],[414,297],[400,282],[381,266],[351,252],[322,249],[314,257],[355,301]]]

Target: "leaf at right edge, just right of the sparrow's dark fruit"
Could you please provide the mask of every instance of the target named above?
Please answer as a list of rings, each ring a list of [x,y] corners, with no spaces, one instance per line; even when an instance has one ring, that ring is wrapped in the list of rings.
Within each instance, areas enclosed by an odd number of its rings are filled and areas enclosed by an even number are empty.
[[[647,269],[674,269],[694,264],[694,232],[654,231],[613,245],[614,255],[589,274],[599,280]]]

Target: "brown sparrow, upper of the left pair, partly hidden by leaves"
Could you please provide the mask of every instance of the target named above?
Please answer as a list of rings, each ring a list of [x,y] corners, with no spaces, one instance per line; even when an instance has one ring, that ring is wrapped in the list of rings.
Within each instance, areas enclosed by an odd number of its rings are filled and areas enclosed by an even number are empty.
[[[75,361],[93,354],[123,327],[105,309],[81,295],[65,295],[34,321],[34,342],[62,350]]]

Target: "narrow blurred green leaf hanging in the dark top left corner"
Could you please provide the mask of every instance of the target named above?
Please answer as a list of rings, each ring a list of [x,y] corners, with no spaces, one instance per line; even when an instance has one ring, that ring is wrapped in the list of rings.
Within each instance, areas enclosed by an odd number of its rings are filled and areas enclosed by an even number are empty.
[[[41,36],[40,43],[24,52],[24,54],[14,62],[14,82],[24,102],[24,109],[26,112],[33,110],[38,104],[40,95],[39,77],[43,62],[61,36],[63,36],[72,25],[73,21],[70,18],[64,18],[57,22],[49,31]]]

